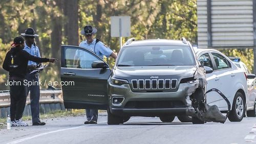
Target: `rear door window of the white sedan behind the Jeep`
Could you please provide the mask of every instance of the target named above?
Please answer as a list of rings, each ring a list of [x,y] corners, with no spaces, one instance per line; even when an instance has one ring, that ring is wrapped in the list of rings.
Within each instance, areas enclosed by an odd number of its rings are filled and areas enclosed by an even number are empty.
[[[212,54],[212,57],[214,57],[214,61],[217,66],[217,69],[224,69],[224,68],[231,67],[231,64],[229,63],[229,61],[222,55],[217,53],[211,53],[211,54]]]

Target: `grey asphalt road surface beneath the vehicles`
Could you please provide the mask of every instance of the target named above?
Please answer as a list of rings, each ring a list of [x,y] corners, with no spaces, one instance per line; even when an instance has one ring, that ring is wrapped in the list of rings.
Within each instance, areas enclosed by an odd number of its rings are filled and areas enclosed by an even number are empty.
[[[256,118],[242,122],[193,125],[161,123],[158,117],[131,117],[123,125],[107,125],[106,113],[97,125],[84,125],[86,116],[44,119],[46,126],[0,130],[0,143],[256,143]],[[31,122],[28,122],[31,125]]]

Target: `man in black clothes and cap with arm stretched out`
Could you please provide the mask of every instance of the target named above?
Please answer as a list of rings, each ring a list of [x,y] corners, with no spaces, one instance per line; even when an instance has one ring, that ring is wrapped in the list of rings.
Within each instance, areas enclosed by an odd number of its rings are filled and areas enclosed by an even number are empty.
[[[22,121],[23,111],[26,105],[26,91],[24,85],[24,78],[27,74],[28,61],[34,62],[56,62],[54,58],[38,58],[30,55],[24,51],[24,39],[23,37],[15,37],[13,46],[10,51],[7,52],[3,68],[9,71],[9,82],[10,85],[10,115],[11,115],[11,126],[28,126],[28,124]]]

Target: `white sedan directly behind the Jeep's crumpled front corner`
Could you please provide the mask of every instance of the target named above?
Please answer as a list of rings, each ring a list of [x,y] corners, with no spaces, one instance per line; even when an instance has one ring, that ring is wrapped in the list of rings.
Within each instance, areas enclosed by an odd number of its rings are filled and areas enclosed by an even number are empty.
[[[201,64],[214,70],[212,73],[206,74],[207,90],[211,88],[219,89],[231,104],[231,111],[228,115],[229,121],[242,121],[245,115],[246,101],[248,101],[245,72],[217,50],[194,50]],[[227,103],[217,92],[207,93],[206,101],[209,105],[217,105],[223,113],[228,110]]]

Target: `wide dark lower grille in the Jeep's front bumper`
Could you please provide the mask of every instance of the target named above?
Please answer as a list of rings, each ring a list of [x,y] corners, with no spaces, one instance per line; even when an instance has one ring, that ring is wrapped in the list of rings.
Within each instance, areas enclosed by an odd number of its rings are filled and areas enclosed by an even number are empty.
[[[125,108],[148,109],[148,108],[177,108],[185,107],[181,101],[133,101],[127,102]]]

